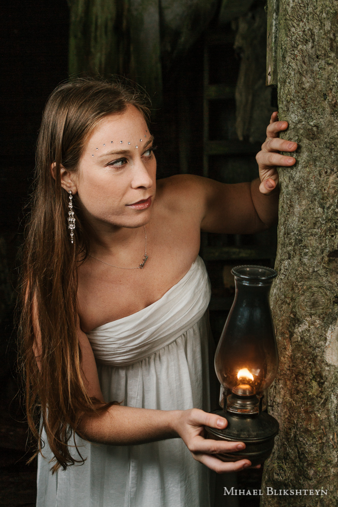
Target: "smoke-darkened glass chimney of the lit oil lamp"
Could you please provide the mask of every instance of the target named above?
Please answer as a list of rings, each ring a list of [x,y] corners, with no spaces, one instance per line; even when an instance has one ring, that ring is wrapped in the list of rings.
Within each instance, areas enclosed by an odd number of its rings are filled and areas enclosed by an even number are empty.
[[[275,270],[260,266],[232,269],[236,294],[221,334],[215,370],[224,390],[247,385],[260,395],[276,377],[278,350],[269,304]]]

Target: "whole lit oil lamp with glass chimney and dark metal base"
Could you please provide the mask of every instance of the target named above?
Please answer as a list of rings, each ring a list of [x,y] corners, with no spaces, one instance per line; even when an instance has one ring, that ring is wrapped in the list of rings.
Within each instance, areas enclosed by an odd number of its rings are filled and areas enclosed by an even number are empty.
[[[208,438],[244,442],[244,451],[216,454],[222,461],[247,458],[252,465],[271,454],[278,433],[277,420],[264,410],[267,388],[278,370],[278,350],[269,303],[274,269],[237,266],[236,294],[216,354],[215,370],[221,383],[225,429],[206,427]]]

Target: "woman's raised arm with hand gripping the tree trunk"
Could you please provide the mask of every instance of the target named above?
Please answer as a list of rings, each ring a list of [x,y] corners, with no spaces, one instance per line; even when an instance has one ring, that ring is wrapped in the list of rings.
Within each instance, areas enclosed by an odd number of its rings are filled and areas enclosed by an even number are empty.
[[[213,233],[254,234],[275,224],[279,199],[276,166],[295,163],[293,157],[278,151],[293,152],[297,148],[297,143],[278,137],[287,125],[277,121],[277,113],[272,115],[267,139],[256,156],[259,177],[252,182],[224,184],[188,174],[168,178],[181,212],[198,217],[202,231]]]

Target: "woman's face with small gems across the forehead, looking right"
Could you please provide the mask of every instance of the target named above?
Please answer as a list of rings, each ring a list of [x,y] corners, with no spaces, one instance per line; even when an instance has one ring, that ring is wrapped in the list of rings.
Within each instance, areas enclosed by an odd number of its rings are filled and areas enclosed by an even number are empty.
[[[99,122],[74,174],[85,218],[92,226],[134,228],[149,221],[156,191],[152,146],[153,136],[133,105]]]

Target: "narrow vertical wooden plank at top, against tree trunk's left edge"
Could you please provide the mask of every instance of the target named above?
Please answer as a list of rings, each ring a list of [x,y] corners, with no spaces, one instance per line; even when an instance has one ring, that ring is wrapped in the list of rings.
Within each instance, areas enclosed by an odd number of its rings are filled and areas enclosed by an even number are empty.
[[[278,85],[277,48],[279,0],[268,0],[267,25],[267,86]]]

